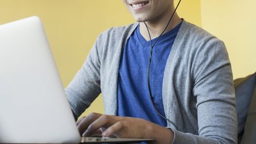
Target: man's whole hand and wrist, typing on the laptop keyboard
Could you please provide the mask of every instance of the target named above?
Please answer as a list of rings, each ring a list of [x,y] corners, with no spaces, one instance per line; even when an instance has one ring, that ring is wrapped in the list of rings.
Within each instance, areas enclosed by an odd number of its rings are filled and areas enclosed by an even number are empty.
[[[98,129],[104,130],[103,136],[111,135],[123,138],[155,139],[154,143],[171,143],[174,137],[172,130],[161,127],[143,119],[119,117],[91,113],[76,122],[82,136],[91,136]]]

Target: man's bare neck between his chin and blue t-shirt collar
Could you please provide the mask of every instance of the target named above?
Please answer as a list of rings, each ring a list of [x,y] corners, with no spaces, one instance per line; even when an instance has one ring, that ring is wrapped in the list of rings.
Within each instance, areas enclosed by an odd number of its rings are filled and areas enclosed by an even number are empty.
[[[164,31],[170,17],[171,15],[167,15],[165,17],[159,18],[158,20],[145,22],[146,25],[148,25],[149,33],[151,34],[151,39],[158,37],[162,33],[162,31]],[[175,28],[180,23],[181,18],[178,17],[177,13],[175,13],[174,17],[172,17],[172,20],[167,27],[167,30],[165,30],[164,33],[167,33],[168,31],[172,30],[172,28]],[[142,34],[144,39],[148,41],[150,39],[146,25],[143,22],[140,23],[140,33]]]

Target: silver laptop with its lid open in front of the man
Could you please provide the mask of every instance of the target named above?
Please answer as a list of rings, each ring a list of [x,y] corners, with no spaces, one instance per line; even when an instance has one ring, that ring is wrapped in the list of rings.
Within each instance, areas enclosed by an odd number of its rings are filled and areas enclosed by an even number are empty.
[[[40,19],[0,25],[0,143],[148,140],[81,138]]]

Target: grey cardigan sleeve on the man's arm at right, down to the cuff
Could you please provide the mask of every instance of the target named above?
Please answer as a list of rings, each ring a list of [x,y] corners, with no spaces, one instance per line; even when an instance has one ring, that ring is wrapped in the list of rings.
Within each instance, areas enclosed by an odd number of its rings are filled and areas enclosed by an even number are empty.
[[[204,43],[191,75],[199,135],[173,130],[173,143],[237,143],[235,92],[225,44],[215,37]]]

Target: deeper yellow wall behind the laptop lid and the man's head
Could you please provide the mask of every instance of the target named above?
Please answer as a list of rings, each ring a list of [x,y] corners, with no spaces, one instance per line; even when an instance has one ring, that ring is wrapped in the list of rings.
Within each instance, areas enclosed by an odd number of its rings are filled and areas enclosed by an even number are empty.
[[[201,25],[200,0],[183,0],[178,12]],[[43,21],[65,87],[101,31],[134,22],[121,0],[0,0],[0,24],[31,15]],[[85,114],[91,111],[104,113],[101,97]]]

